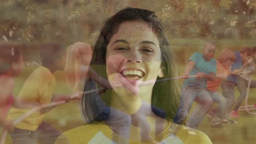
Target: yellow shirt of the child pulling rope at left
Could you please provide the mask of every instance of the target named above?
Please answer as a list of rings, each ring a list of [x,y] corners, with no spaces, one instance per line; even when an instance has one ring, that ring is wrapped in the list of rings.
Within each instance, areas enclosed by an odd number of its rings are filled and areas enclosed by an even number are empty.
[[[39,67],[28,76],[24,83],[18,98],[39,104],[48,104],[51,101],[53,91],[56,85],[55,77],[51,71],[45,67]],[[27,109],[10,110],[8,119],[14,120],[26,113]],[[27,117],[16,125],[16,128],[25,130],[36,130],[43,121],[44,115],[40,112],[34,112],[31,116]]]

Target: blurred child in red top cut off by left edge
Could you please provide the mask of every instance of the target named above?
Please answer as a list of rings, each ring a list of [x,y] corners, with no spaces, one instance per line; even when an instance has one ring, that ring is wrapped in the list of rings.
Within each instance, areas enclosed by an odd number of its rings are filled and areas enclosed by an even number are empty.
[[[6,119],[11,106],[18,108],[32,108],[35,104],[27,103],[13,97],[14,76],[21,73],[24,62],[21,48],[24,45],[11,42],[0,43],[0,126],[12,131],[14,125]]]

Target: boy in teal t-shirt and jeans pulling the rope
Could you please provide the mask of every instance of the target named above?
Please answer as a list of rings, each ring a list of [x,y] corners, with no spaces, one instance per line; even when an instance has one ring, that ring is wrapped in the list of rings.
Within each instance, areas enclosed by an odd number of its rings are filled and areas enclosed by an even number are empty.
[[[207,80],[213,81],[216,78],[216,60],[213,58],[216,46],[207,42],[203,45],[202,53],[194,53],[188,61],[187,68],[184,73],[184,83],[181,92],[181,104],[176,113],[174,122],[181,124],[187,117],[193,101],[201,105],[200,112],[197,110],[191,113],[187,126],[196,128],[205,117],[208,110],[211,109],[213,100],[206,90]],[[196,75],[196,77],[188,77]]]

